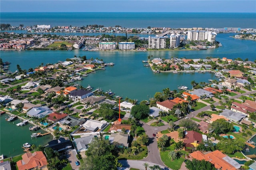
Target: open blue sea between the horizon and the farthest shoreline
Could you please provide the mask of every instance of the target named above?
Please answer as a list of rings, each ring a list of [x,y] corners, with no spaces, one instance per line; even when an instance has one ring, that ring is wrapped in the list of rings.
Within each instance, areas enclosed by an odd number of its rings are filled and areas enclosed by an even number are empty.
[[[180,7],[182,8],[182,7]],[[1,12],[1,23],[12,26],[122,26],[126,28],[256,28],[256,13],[189,12]]]

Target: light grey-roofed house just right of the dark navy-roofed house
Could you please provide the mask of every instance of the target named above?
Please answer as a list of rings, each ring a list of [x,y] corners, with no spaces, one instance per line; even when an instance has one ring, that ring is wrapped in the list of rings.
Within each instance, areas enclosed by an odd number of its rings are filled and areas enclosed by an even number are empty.
[[[89,135],[89,136],[84,136],[81,138],[75,138],[75,143],[76,143],[76,148],[79,150],[79,152],[86,151],[89,148],[89,144],[94,140],[96,136],[94,135]]]

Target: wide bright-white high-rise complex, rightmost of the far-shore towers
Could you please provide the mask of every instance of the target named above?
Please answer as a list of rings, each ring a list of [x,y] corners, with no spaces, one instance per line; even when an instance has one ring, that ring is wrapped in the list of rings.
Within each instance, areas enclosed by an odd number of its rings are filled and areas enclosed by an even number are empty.
[[[217,35],[216,32],[190,30],[190,31],[188,31],[188,40],[189,41],[207,40],[208,42],[215,43],[216,35]]]

